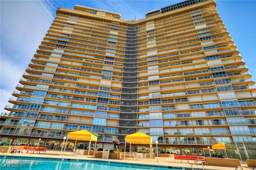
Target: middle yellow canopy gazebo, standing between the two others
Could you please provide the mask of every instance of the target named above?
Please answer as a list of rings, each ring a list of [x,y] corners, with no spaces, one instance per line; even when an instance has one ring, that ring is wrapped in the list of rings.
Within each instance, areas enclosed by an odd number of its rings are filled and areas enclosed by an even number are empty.
[[[124,144],[124,158],[125,158],[125,149],[126,142],[130,143],[130,152],[131,152],[131,144],[150,144],[150,160],[152,160],[152,138],[142,132],[136,132],[133,134],[129,134],[125,136],[125,144]]]

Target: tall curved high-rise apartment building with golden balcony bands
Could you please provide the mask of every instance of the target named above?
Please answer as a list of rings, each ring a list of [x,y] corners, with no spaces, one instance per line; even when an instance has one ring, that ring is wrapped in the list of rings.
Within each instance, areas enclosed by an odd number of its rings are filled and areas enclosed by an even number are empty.
[[[163,148],[256,140],[255,82],[216,2],[129,21],[79,5],[56,13],[1,114],[2,141],[51,146],[82,129],[102,145],[138,131]]]

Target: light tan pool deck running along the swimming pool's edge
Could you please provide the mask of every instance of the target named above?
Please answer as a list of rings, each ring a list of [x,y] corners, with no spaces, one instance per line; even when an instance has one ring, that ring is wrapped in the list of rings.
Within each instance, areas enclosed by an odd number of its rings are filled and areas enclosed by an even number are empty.
[[[133,160],[133,159],[102,159],[102,158],[95,158],[94,156],[83,155],[83,156],[72,156],[73,152],[65,151],[64,155],[60,156],[59,150],[47,150],[45,154],[35,154],[35,153],[0,153],[0,155],[11,155],[11,156],[30,156],[30,157],[46,157],[46,158],[67,158],[67,159],[81,159],[81,160],[102,160],[102,161],[113,161],[113,162],[125,162],[125,163],[132,163],[132,164],[149,164],[149,165],[162,165],[162,166],[174,166],[174,167],[184,167],[184,168],[191,168],[191,165],[194,162],[190,163],[180,163],[180,162],[174,162],[174,158],[164,158],[164,157],[158,157],[150,161],[150,159],[143,159],[143,160]],[[62,152],[63,154],[63,152]],[[178,160],[179,161],[179,160]],[[185,162],[185,161],[184,161]],[[243,170],[252,170],[252,167],[247,166],[246,163],[241,163]],[[202,165],[194,164],[192,166],[194,169],[202,169]],[[207,166],[204,165],[204,169],[208,170],[235,170],[235,167],[223,167],[223,166]],[[238,168],[238,170],[241,170],[241,168]]]

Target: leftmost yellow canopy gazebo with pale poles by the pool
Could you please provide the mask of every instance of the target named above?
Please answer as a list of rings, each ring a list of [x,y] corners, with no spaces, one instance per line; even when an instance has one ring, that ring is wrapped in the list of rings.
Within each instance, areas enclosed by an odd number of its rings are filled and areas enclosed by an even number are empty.
[[[69,132],[68,133],[68,138],[67,138],[66,142],[68,141],[68,139],[90,141],[89,142],[89,146],[88,146],[88,148],[89,148],[89,150],[88,150],[88,157],[89,157],[91,142],[95,141],[95,146],[94,146],[94,156],[95,156],[97,136],[95,136],[91,132],[88,132],[85,129],[84,130],[78,130],[78,131],[75,131],[75,132]],[[76,142],[75,142],[74,148],[75,147],[76,147]]]

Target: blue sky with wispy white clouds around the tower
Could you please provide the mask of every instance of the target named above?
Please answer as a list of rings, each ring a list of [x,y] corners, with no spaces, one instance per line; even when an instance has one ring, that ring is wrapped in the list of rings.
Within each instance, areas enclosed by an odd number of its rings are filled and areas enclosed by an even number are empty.
[[[146,12],[182,0],[0,0],[1,113],[50,27],[58,7],[74,5],[121,14],[122,19],[145,18]],[[217,10],[254,81],[256,80],[256,1],[216,0]]]

